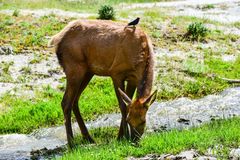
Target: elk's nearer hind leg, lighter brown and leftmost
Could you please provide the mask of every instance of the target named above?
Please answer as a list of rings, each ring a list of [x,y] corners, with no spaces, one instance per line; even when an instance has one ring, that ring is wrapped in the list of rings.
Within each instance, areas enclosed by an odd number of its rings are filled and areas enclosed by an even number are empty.
[[[85,69],[81,67],[75,67],[74,69],[65,69],[67,77],[67,87],[62,100],[62,109],[65,119],[66,134],[69,146],[73,147],[73,132],[71,125],[71,111],[75,98],[78,95],[78,89],[85,74]]]

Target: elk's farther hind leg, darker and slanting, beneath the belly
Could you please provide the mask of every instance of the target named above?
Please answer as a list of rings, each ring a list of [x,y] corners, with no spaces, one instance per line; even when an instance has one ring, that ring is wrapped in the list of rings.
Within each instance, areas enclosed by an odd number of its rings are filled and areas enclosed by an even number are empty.
[[[86,86],[88,85],[89,81],[92,79],[93,74],[91,73],[86,73],[86,75],[84,76],[82,82],[81,82],[81,86],[78,90],[78,95],[74,100],[74,105],[73,105],[73,113],[77,119],[78,122],[78,126],[82,132],[83,138],[86,139],[88,142],[90,143],[94,143],[94,140],[92,139],[92,137],[90,136],[87,127],[83,121],[83,118],[81,116],[81,113],[79,111],[79,107],[78,107],[78,100],[79,97],[81,96],[83,90],[86,88]]]

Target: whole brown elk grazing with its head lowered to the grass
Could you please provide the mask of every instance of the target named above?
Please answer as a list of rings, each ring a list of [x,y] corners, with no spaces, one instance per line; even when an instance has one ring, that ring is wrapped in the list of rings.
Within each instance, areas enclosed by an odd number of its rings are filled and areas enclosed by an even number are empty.
[[[112,78],[122,114],[118,139],[135,141],[144,132],[146,112],[156,98],[156,92],[150,95],[153,48],[141,29],[124,27],[112,21],[76,20],[49,41],[49,46],[55,46],[67,79],[62,109],[70,147],[72,110],[83,137],[94,142],[78,108],[79,97],[93,75]],[[137,97],[132,101],[136,88]]]

